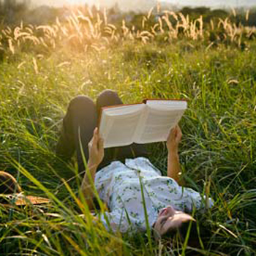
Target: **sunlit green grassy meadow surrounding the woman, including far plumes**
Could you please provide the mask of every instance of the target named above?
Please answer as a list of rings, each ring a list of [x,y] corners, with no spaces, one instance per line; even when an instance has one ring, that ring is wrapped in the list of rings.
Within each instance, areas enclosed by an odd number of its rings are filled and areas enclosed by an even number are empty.
[[[20,23],[0,32],[0,170],[48,206],[0,206],[1,255],[255,255],[256,29],[170,11],[140,24],[108,23],[104,12],[74,10],[48,26]],[[157,18],[156,18],[157,17]],[[72,97],[104,89],[125,103],[184,98],[181,165],[187,187],[214,208],[198,214],[201,248],[121,236],[93,222],[78,200],[75,160],[55,157]],[[166,174],[164,143],[148,145]],[[62,173],[62,176],[61,176]]]

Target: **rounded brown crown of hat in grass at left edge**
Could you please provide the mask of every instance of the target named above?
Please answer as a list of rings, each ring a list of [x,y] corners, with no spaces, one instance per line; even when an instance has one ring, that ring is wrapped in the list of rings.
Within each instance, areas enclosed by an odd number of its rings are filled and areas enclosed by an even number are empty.
[[[20,193],[21,191],[19,184],[10,173],[0,171],[0,194]]]

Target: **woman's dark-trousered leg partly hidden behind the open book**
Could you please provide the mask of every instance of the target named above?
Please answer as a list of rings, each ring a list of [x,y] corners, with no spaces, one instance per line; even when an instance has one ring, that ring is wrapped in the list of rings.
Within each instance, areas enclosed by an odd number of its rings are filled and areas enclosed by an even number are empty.
[[[97,98],[97,112],[99,116],[100,108],[110,105],[123,104],[121,99],[118,97],[116,91],[105,90],[99,94]],[[108,165],[113,160],[124,160],[126,158],[134,157],[146,157],[146,148],[143,145],[133,143],[131,146],[122,146],[116,148],[107,148],[105,150],[105,158],[102,161],[102,166]]]

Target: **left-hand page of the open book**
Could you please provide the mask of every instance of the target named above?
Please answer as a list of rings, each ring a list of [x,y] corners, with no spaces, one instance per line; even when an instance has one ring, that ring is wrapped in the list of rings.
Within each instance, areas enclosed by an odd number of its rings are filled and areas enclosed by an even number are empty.
[[[104,140],[104,148],[133,143],[134,133],[145,106],[145,104],[120,105],[103,109],[99,134]]]

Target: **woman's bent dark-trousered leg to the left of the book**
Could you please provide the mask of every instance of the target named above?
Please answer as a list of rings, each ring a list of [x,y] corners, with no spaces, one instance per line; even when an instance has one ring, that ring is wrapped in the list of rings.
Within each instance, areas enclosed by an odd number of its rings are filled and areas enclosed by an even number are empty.
[[[58,157],[68,160],[76,151],[79,173],[85,170],[83,154],[86,161],[89,159],[88,143],[96,126],[97,110],[92,99],[86,96],[78,96],[72,99],[63,119],[56,154]],[[83,148],[82,151],[81,148]]]

